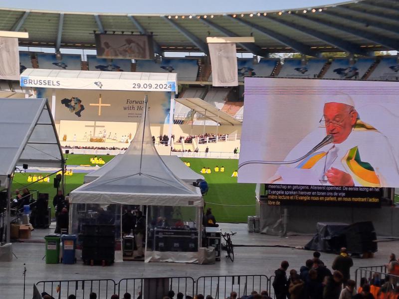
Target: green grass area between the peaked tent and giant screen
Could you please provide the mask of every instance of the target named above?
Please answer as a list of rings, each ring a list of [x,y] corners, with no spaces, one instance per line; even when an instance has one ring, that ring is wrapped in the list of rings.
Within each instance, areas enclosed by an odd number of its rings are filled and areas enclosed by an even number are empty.
[[[209,167],[210,174],[202,174],[209,185],[204,195],[206,207],[218,222],[247,222],[247,216],[255,215],[255,184],[237,183],[231,174],[238,167],[236,159],[182,158],[190,161],[191,168],[200,173],[202,167]],[[224,166],[224,172],[214,172],[215,166]]]

